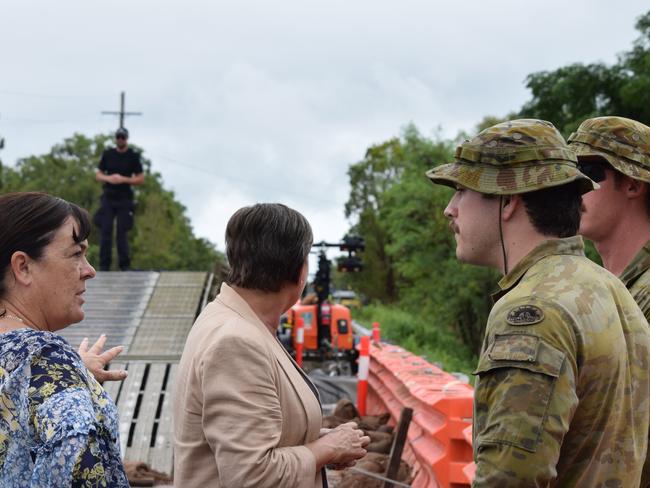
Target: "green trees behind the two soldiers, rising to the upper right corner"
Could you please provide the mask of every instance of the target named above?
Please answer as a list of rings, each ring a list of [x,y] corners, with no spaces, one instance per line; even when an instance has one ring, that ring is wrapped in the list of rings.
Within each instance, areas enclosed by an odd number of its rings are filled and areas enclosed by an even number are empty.
[[[486,116],[476,132],[516,117],[550,120],[565,136],[598,115],[650,123],[650,12],[636,27],[640,37],[613,66],[578,63],[533,73],[526,80],[532,98],[520,112]],[[451,160],[454,142],[466,137],[460,133],[456,141],[432,140],[408,126],[401,137],[371,146],[348,171],[346,216],[355,221],[351,231],[366,239],[367,249],[364,271],[339,281],[392,306],[381,313],[395,314],[391,317],[403,324],[395,329],[414,350],[433,347],[430,331],[453,331],[471,351],[478,351],[491,308],[489,295],[496,288],[495,272],[456,260],[442,213],[451,192],[424,178],[427,169]],[[599,261],[590,243],[587,255]],[[419,322],[400,321],[398,308]],[[417,325],[423,317],[426,328]],[[409,347],[404,340],[400,343]]]

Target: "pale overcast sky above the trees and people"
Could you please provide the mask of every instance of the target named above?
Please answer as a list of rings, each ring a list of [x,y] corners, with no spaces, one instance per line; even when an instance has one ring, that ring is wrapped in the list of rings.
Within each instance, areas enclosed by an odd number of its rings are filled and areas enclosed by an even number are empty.
[[[230,215],[278,201],[317,240],[349,227],[346,171],[414,122],[472,131],[526,75],[613,63],[647,0],[11,0],[0,4],[0,159],[75,132],[131,140],[223,250]]]

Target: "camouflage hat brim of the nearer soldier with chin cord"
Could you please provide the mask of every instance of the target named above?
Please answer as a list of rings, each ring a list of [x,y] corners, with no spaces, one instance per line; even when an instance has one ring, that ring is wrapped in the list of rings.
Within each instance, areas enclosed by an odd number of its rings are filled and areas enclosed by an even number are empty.
[[[488,195],[516,195],[577,182],[581,194],[599,188],[573,164],[564,161],[496,166],[456,161],[430,169],[427,177],[436,184],[459,186]]]

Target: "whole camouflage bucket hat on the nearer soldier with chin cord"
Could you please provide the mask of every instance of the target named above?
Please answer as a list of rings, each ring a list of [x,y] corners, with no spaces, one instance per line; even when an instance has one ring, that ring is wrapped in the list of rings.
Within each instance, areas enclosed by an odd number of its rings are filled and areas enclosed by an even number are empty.
[[[483,130],[456,148],[453,163],[427,171],[431,181],[479,193],[514,195],[577,181],[581,193],[598,188],[550,122],[520,119]]]

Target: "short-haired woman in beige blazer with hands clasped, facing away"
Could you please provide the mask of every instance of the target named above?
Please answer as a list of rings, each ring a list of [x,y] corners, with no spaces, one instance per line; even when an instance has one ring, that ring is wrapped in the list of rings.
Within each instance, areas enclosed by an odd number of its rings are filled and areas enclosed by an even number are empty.
[[[370,442],[350,422],[321,432],[318,392],[275,332],[300,297],[307,220],[280,204],[230,218],[227,284],[192,327],[174,392],[176,486],[322,488]]]

